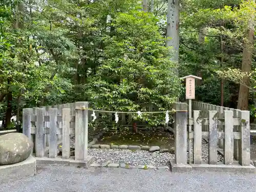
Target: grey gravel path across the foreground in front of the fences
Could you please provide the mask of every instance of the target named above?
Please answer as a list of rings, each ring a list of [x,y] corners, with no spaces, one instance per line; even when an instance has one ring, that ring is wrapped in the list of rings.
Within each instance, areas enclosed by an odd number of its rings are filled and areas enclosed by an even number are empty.
[[[1,178],[0,178],[1,179]],[[170,173],[124,168],[44,166],[32,178],[0,184],[8,192],[255,192],[255,175]]]

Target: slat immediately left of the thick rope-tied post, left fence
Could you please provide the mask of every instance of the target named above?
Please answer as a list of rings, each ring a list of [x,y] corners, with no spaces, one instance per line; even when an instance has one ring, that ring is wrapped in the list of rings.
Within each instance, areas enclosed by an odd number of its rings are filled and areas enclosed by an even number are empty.
[[[62,158],[70,158],[70,113],[71,109],[62,109]]]

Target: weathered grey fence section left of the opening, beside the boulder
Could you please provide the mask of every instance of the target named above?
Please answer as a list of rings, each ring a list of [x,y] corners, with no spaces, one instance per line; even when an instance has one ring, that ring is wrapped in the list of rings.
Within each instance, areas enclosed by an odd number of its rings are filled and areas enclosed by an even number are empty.
[[[33,153],[36,157],[56,158],[57,146],[62,143],[62,159],[70,158],[70,137],[75,137],[75,160],[87,157],[88,124],[92,120],[92,111],[81,110],[89,108],[89,102],[75,102],[41,108],[28,108],[23,110],[23,133],[34,142]],[[155,110],[154,108],[151,108]],[[95,112],[97,121],[100,114]],[[110,122],[114,114],[109,113]],[[132,116],[122,114],[120,122],[129,125]]]

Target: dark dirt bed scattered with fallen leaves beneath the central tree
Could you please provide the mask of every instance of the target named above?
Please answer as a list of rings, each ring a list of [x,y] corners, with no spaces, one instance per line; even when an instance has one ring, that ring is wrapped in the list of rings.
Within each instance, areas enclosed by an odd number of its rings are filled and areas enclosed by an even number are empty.
[[[131,130],[106,132],[96,144],[113,144],[113,145],[148,145],[160,146],[161,148],[170,149],[174,147],[174,135],[164,131],[138,131],[134,133]]]

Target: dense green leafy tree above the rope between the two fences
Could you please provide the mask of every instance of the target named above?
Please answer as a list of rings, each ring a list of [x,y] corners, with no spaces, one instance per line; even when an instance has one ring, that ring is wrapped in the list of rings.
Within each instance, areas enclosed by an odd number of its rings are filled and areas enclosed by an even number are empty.
[[[105,38],[104,60],[89,79],[89,100],[96,108],[136,112],[154,104],[171,109],[181,85],[156,22],[152,15],[137,11],[117,15],[116,33]]]

